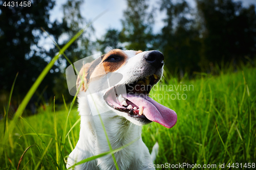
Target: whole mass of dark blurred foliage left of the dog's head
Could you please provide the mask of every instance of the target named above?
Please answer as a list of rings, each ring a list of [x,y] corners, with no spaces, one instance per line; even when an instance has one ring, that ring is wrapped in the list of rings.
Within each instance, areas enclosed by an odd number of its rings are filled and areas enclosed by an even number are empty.
[[[36,80],[36,76],[57,53],[58,48],[55,45],[41,44],[40,41],[48,38],[42,30],[46,30],[51,39],[62,47],[67,43],[67,40],[89,23],[80,14],[80,6],[83,0],[67,1],[63,5],[64,16],[61,23],[49,20],[50,10],[54,7],[53,1],[34,3],[37,4],[33,4],[31,8],[0,6],[0,55],[2,56],[2,62],[0,63],[0,76],[2,78],[0,93],[2,98],[0,104],[2,106],[6,102],[7,91],[10,90],[12,81],[19,72],[17,77],[19,85],[13,91],[11,101],[10,111],[12,113],[17,109],[20,99],[24,98],[30,85]],[[90,29],[87,29],[86,33],[65,52],[72,62],[92,54],[92,41],[89,37],[93,31],[93,27],[90,26]],[[27,109],[29,113],[35,113],[36,107],[43,103],[41,100],[45,99],[47,103],[51,100],[53,94],[56,95],[57,103],[62,100],[61,94],[65,94],[68,101],[72,100],[72,97],[68,95],[65,74],[63,74],[66,66],[69,66],[66,60],[57,60],[53,65],[51,71],[31,98],[30,109]],[[60,86],[62,88],[59,88]]]

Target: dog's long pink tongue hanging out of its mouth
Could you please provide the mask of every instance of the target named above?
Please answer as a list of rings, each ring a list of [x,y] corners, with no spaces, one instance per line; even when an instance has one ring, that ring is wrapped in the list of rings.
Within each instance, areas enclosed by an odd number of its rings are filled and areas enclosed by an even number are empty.
[[[177,114],[147,95],[144,94],[123,94],[124,98],[133,102],[137,106],[143,106],[143,113],[146,118],[157,122],[166,128],[172,128],[177,122]]]

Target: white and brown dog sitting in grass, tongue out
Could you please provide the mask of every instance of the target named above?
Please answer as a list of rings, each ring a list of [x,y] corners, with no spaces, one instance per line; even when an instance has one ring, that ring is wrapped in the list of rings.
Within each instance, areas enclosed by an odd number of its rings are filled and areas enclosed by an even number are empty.
[[[114,154],[119,169],[154,169],[148,165],[156,158],[158,144],[150,154],[141,138],[141,126],[157,122],[172,128],[177,122],[175,111],[148,96],[162,78],[163,59],[159,51],[115,49],[83,64],[76,82],[81,116],[79,140],[68,157],[67,168],[110,151],[102,120],[113,150],[135,140]],[[116,169],[112,155],[73,168]]]

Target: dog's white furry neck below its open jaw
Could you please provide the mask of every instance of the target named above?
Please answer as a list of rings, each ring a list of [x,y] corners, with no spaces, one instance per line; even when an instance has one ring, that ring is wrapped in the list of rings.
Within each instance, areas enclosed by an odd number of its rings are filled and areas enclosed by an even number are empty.
[[[102,119],[103,125],[101,124],[100,118]],[[110,149],[103,126],[108,135],[112,149],[120,148],[141,136],[141,127],[132,124],[124,117],[118,115],[110,116],[109,114],[100,114],[95,116],[81,115],[79,140],[81,139],[84,142],[90,143],[93,139],[91,144],[97,144],[100,153],[109,151]]]

